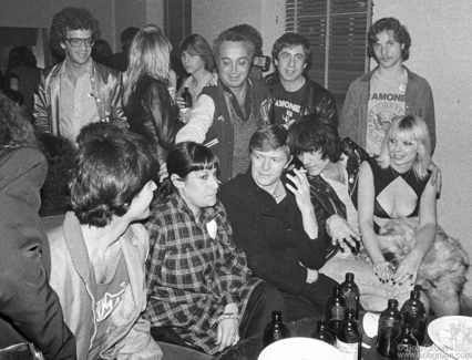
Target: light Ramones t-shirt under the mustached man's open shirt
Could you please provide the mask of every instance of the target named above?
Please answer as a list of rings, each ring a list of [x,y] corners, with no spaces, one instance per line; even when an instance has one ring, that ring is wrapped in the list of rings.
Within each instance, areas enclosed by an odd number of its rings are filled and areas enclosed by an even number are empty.
[[[396,116],[404,115],[404,93],[407,91],[408,73],[390,80],[376,71],[370,80],[368,104],[366,151],[370,155],[380,154],[383,137]]]

